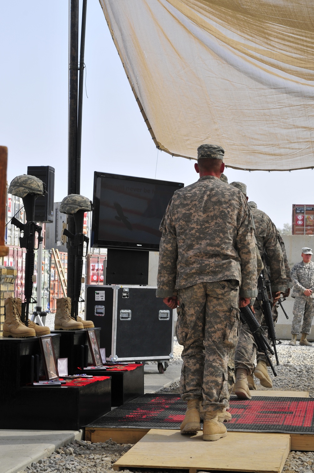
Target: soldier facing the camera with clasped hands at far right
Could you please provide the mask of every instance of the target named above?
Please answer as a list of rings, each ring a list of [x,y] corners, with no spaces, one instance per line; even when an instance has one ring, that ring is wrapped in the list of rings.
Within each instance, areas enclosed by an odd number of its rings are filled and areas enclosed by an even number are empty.
[[[297,263],[291,270],[293,291],[291,297],[295,298],[293,305],[293,320],[291,329],[291,342],[289,345],[296,345],[297,335],[301,329],[300,345],[312,347],[313,344],[306,340],[306,336],[311,333],[312,320],[314,316],[314,263],[312,259],[312,248],[302,248],[301,263]]]

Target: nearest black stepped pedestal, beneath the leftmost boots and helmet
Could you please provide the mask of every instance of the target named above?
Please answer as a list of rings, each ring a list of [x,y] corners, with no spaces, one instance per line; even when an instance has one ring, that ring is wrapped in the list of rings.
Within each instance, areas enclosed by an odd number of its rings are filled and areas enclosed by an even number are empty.
[[[51,336],[60,358],[61,336]],[[31,357],[36,355],[44,377],[37,337],[0,337],[0,429],[77,430],[110,411],[111,378],[85,386],[27,385],[32,382]]]

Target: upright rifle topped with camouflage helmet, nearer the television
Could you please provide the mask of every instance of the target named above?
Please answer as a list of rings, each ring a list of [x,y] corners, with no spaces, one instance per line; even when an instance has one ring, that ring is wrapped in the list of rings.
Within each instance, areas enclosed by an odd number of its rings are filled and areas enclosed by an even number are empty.
[[[68,229],[63,230],[63,235],[70,240],[68,251],[75,256],[74,261],[74,290],[71,298],[71,315],[75,320],[78,317],[78,303],[84,302],[80,297],[82,278],[83,257],[87,256],[89,238],[83,233],[84,213],[92,210],[92,203],[87,197],[79,194],[70,194],[63,199],[60,205],[60,211],[67,215],[72,215],[75,221],[75,235]],[[86,253],[84,254],[84,243],[86,243]]]

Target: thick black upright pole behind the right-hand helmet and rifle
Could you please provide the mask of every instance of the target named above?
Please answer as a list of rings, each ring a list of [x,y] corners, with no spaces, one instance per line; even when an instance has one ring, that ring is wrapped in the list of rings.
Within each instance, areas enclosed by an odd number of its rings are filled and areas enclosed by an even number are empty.
[[[69,51],[69,154],[68,194],[79,194],[77,166],[78,136],[78,0],[70,0],[70,51]],[[75,222],[68,215],[68,230],[75,233]],[[74,295],[74,255],[70,254],[68,243],[67,296]]]

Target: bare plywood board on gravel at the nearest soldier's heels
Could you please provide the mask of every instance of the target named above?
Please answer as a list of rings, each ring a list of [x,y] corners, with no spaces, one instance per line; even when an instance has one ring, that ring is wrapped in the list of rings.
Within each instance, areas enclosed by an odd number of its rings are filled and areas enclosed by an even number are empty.
[[[245,447],[245,455],[244,452]],[[230,472],[281,473],[290,450],[287,434],[229,432],[216,442],[204,442],[178,430],[151,429],[114,465],[123,468],[220,470]],[[267,452],[267,457],[265,457]]]

